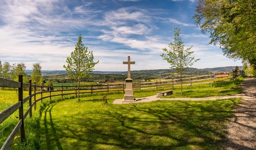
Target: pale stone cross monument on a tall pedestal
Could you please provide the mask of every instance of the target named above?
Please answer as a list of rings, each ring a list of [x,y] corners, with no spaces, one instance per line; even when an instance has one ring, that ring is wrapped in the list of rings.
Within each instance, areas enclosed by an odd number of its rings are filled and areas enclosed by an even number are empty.
[[[131,64],[135,64],[135,61],[130,61],[130,56],[128,56],[128,61],[123,61],[123,64],[128,64],[128,75],[127,75],[127,79],[125,79],[125,82],[126,82],[125,98],[123,101],[136,102],[134,100],[133,89],[132,89],[132,79],[131,79],[131,72],[130,72]]]

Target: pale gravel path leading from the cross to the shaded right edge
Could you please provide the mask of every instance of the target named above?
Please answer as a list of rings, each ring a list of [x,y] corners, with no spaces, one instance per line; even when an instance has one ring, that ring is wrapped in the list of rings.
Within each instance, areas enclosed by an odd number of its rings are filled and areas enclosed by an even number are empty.
[[[156,95],[137,98],[136,103],[167,100],[167,101],[201,101],[228,98],[243,98],[234,110],[233,118],[228,120],[227,136],[224,150],[256,150],[256,78],[245,78],[241,84],[243,94],[207,98],[157,98]],[[116,99],[113,104],[122,104]]]

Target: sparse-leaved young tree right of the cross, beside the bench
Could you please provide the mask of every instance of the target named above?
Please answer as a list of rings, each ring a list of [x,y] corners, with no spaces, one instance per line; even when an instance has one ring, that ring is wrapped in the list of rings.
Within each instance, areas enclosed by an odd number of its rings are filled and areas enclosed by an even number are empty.
[[[200,59],[196,59],[191,57],[190,55],[194,52],[190,52],[192,46],[186,50],[184,50],[183,41],[180,37],[180,29],[174,29],[174,43],[169,43],[169,50],[164,48],[163,52],[166,54],[162,54],[160,56],[163,57],[163,60],[166,60],[167,63],[170,63],[170,69],[176,69],[177,73],[180,74],[180,84],[181,84],[181,95],[182,95],[182,74],[186,71],[189,66],[192,66],[193,63],[199,61]]]

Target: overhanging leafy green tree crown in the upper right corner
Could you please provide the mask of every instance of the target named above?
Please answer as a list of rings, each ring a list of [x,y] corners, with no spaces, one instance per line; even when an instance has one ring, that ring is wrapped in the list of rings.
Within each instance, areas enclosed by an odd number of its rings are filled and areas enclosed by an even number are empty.
[[[256,64],[256,0],[198,0],[192,17],[228,58]]]

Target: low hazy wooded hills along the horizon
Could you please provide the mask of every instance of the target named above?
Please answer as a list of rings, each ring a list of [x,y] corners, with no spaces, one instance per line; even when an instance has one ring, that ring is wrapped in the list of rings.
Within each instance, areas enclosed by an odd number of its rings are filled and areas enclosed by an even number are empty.
[[[239,66],[240,69],[243,66]],[[187,75],[206,75],[210,72],[212,73],[221,73],[221,72],[230,72],[232,69],[235,69],[235,66],[225,66],[225,67],[215,67],[215,68],[204,68],[204,69],[197,69],[197,68],[188,68],[186,74]],[[26,70],[25,72],[30,75],[33,70]],[[67,74],[66,70],[42,70],[43,75],[64,75]],[[176,72],[175,69],[154,69],[154,70],[133,70],[131,73],[136,74],[166,74],[167,72]],[[93,71],[95,74],[127,74],[126,72],[120,71]]]

